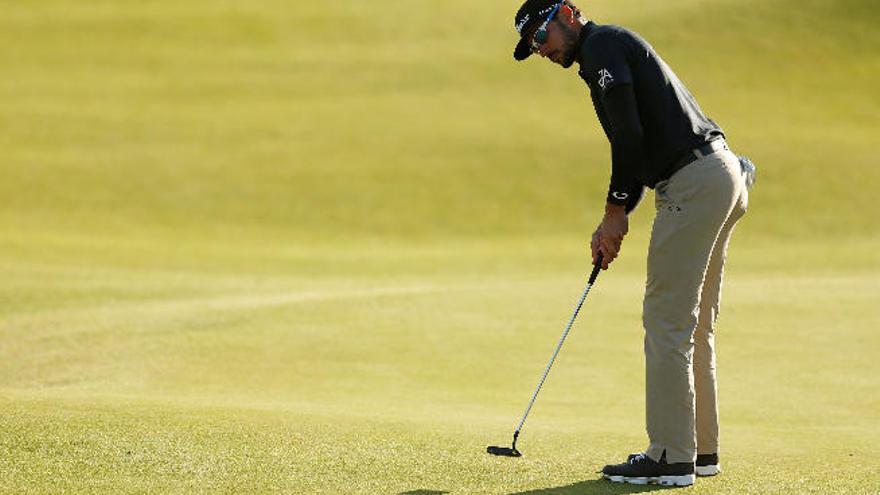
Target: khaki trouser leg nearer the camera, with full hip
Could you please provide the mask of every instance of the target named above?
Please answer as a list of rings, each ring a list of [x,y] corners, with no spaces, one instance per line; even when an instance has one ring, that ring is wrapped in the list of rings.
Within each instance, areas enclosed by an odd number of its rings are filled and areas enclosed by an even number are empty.
[[[694,332],[703,280],[719,234],[744,189],[728,151],[703,157],[657,188],[645,288],[648,455],[696,457]]]

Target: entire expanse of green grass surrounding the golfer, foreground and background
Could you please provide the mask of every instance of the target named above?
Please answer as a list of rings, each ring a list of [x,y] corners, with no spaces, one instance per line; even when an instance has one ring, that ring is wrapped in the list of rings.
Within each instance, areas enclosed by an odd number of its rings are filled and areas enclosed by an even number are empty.
[[[0,2],[0,492],[630,493],[650,200],[582,289],[608,146],[514,3]],[[880,493],[868,1],[596,2],[758,163],[725,472]],[[376,12],[383,12],[377,15]]]

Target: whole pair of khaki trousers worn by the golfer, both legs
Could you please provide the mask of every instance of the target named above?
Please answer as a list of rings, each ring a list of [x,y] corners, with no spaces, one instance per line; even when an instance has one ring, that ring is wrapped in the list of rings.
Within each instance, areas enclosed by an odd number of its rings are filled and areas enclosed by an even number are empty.
[[[647,454],[718,452],[714,326],[733,227],[748,190],[736,155],[703,156],[656,187],[645,288]]]

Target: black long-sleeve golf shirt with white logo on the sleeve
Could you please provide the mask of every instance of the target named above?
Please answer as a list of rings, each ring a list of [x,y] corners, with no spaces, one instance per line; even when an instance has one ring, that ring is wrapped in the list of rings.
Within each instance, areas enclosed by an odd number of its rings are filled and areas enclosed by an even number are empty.
[[[644,186],[653,188],[690,150],[724,135],[638,34],[589,22],[577,60],[611,143],[609,203],[634,207]]]

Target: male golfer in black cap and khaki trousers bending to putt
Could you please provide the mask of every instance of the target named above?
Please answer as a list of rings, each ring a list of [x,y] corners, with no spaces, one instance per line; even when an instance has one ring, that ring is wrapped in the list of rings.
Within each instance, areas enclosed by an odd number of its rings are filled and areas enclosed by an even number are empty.
[[[611,143],[605,215],[593,262],[620,253],[627,214],[655,190],[643,307],[649,446],[605,466],[615,482],[691,485],[718,461],[714,323],[727,245],[754,169],[734,155],[684,84],[639,35],[587,21],[569,0],[526,0],[514,19],[516,60],[537,53],[580,65]],[[751,167],[751,168],[747,168]]]

